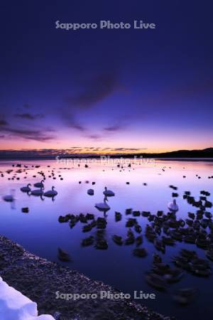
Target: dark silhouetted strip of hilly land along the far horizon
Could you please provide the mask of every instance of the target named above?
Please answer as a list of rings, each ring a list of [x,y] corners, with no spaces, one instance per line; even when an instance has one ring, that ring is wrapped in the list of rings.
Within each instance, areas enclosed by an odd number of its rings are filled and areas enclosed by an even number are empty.
[[[60,158],[97,158],[99,154],[68,154],[63,150],[56,149],[41,149],[41,150],[0,150],[0,159],[55,159],[56,156]],[[107,154],[106,154],[107,156]],[[177,150],[163,153],[143,153],[143,154],[114,154],[111,158],[122,156],[130,158],[133,156],[143,156],[144,158],[155,159],[183,159],[183,158],[212,158],[213,148],[203,150]]]

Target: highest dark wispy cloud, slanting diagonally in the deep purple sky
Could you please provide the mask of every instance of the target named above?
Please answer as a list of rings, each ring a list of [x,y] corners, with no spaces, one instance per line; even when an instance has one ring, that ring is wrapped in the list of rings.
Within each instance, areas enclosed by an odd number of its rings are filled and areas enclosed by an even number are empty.
[[[115,73],[99,74],[89,79],[83,90],[78,95],[69,97],[67,102],[70,105],[87,109],[111,95],[116,87],[118,87],[118,82]]]

